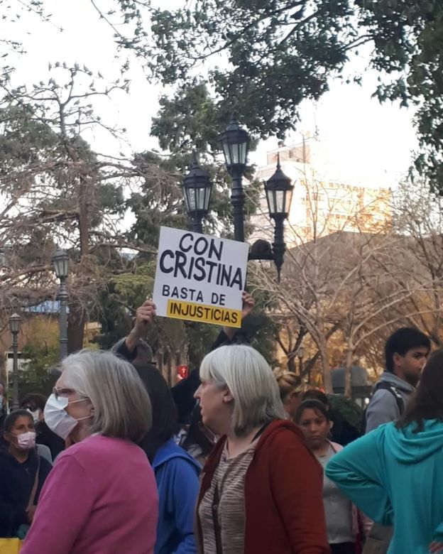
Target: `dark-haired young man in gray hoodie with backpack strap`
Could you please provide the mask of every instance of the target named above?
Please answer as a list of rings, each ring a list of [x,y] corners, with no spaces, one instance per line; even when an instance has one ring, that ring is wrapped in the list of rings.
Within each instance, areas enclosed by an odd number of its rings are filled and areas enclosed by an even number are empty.
[[[386,369],[366,408],[366,433],[398,419],[405,411],[430,350],[429,338],[415,327],[402,327],[390,335],[385,344]]]

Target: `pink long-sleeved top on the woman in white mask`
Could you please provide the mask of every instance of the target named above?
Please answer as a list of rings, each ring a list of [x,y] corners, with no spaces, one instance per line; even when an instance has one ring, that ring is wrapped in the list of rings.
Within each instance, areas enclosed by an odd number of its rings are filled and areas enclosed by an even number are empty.
[[[58,457],[21,554],[152,554],[157,517],[143,450],[94,435]]]

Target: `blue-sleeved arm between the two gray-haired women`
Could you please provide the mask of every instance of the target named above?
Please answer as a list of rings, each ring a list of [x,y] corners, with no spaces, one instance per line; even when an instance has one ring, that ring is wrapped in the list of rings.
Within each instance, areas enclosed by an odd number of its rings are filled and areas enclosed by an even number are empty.
[[[197,469],[192,463],[181,458],[172,461],[173,467],[173,509],[175,528],[180,536],[180,543],[173,554],[196,554],[194,538],[194,514],[199,478]]]

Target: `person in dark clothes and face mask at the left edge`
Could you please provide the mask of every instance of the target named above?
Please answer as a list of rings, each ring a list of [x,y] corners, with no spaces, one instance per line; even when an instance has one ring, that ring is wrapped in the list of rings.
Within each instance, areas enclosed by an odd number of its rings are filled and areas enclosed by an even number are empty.
[[[35,427],[25,410],[10,413],[0,445],[0,537],[23,538],[51,465],[35,450]]]

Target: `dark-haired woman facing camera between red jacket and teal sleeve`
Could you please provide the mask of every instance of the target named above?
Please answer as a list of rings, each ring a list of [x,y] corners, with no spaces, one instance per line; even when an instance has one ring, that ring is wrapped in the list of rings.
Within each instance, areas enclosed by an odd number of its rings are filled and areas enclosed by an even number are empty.
[[[329,440],[332,420],[324,403],[305,400],[295,413],[295,423],[300,425],[307,445],[317,457],[323,469],[327,462],[343,447]],[[327,536],[332,554],[355,554],[356,536],[359,532],[356,510],[344,494],[341,494],[325,475],[323,476],[323,504],[326,516]]]

